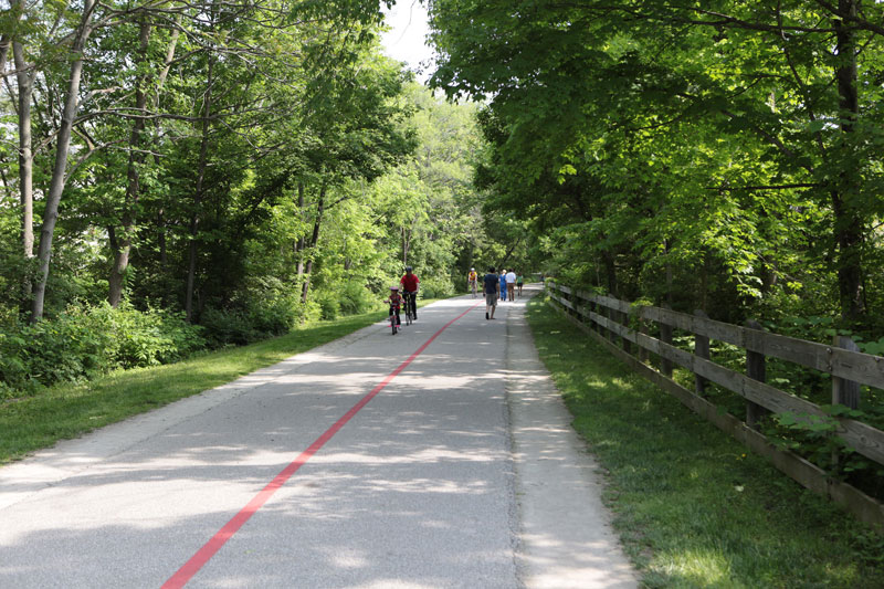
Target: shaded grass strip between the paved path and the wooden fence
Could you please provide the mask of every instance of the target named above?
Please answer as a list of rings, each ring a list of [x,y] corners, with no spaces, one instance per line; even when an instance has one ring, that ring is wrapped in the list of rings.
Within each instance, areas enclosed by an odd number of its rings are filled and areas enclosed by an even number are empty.
[[[884,587],[884,538],[631,372],[541,297],[528,319],[645,587]]]

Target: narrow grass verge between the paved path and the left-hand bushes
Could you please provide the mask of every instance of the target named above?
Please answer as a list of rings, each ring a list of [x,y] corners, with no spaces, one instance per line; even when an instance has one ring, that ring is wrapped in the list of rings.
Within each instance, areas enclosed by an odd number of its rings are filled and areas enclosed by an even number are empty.
[[[432,301],[421,301],[419,306]],[[156,368],[117,371],[82,385],[61,385],[0,403],[0,464],[59,440],[76,438],[183,397],[230,382],[259,368],[381,320],[387,312],[303,326],[291,334]]]

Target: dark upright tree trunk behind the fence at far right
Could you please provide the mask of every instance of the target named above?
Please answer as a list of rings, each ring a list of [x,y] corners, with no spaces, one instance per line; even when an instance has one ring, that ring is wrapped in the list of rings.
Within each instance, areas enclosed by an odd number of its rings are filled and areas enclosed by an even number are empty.
[[[843,145],[850,148],[850,136],[860,114],[860,101],[856,76],[856,35],[848,24],[851,17],[856,17],[857,0],[839,0],[834,21],[838,65],[838,82],[841,133]],[[840,186],[832,191],[832,211],[834,213],[835,242],[839,249],[838,290],[841,298],[841,315],[851,323],[861,323],[867,315],[863,297],[863,272],[860,250],[863,241],[863,222],[857,213],[855,193],[859,189],[857,178],[849,170],[841,173]]]

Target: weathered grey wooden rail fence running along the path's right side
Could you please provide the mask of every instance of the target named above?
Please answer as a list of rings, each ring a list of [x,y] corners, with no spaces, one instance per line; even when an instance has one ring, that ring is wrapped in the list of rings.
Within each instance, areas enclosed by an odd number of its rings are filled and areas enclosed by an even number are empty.
[[[758,431],[758,420],[767,412],[818,416],[832,419],[819,406],[785,392],[765,382],[766,358],[779,358],[806,368],[828,372],[832,377],[832,403],[856,408],[860,386],[884,389],[884,358],[857,351],[850,338],[836,338],[827,346],[803,339],[764,332],[755,322],[746,327],[709,319],[702,312],[694,315],[630,303],[586,293],[547,282],[549,298],[567,317],[601,341],[642,376],[675,396],[685,406],[722,430],[740,440],[755,452],[771,460],[783,473],[804,487],[831,497],[863,522],[884,529],[884,505],[857,488],[832,478],[825,471],[797,454],[772,445]],[[635,330],[630,317],[640,319]],[[651,329],[651,322],[659,329]],[[693,334],[693,354],[672,345],[673,329]],[[660,338],[649,333],[660,333]],[[746,374],[716,364],[709,358],[709,341],[718,340],[746,350]],[[619,344],[619,345],[618,345]],[[633,346],[638,356],[632,354]],[[660,357],[660,369],[646,362],[649,353]],[[691,391],[672,379],[673,366],[694,375]],[[746,400],[746,420],[719,411],[704,398],[708,382],[735,392]],[[807,418],[804,418],[807,419]],[[852,419],[835,418],[839,435],[863,456],[884,464],[884,431]]]

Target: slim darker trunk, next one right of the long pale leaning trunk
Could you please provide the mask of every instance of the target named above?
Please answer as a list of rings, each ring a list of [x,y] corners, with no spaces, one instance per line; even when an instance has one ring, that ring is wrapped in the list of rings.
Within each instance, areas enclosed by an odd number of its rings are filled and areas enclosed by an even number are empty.
[[[139,25],[138,34],[138,57],[136,66],[143,66],[147,62],[147,45],[150,41],[150,23],[145,18]],[[145,92],[145,75],[139,74],[135,82],[135,109],[145,114],[147,112],[147,92]],[[123,238],[118,244],[112,246],[114,252],[114,264],[108,277],[107,301],[112,307],[119,306],[123,299],[123,285],[126,270],[129,266],[129,253],[131,251],[133,234],[135,232],[135,208],[138,204],[140,192],[139,167],[144,162],[144,156],[138,152],[141,145],[141,136],[145,130],[145,119],[136,118],[131,126],[129,136],[129,162],[126,171],[126,198],[123,211]]]

